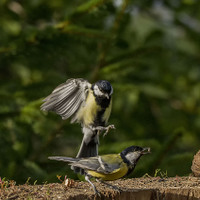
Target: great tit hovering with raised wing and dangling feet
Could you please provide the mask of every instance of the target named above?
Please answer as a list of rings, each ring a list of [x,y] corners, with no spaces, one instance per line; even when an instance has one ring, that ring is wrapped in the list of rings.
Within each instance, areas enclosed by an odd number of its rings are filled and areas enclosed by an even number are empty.
[[[99,131],[115,128],[106,127],[111,113],[113,88],[108,81],[90,84],[82,78],[68,79],[56,87],[41,105],[41,110],[53,111],[71,123],[81,123],[83,140],[78,158],[98,155]],[[105,134],[106,134],[105,133]]]

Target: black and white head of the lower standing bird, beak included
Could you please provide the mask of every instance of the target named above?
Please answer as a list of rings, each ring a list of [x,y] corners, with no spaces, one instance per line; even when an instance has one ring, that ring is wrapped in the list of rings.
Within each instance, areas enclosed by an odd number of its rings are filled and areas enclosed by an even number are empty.
[[[129,162],[130,165],[135,166],[142,155],[150,153],[149,147],[130,146],[121,152],[121,156]]]

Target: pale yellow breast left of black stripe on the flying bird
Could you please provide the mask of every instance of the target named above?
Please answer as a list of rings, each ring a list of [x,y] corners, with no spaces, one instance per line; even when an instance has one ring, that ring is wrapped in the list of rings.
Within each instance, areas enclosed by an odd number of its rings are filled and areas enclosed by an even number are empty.
[[[83,122],[86,126],[93,123],[96,114],[101,110],[101,107],[96,104],[95,97],[92,91],[89,91],[85,105],[82,106],[77,113],[77,120]]]

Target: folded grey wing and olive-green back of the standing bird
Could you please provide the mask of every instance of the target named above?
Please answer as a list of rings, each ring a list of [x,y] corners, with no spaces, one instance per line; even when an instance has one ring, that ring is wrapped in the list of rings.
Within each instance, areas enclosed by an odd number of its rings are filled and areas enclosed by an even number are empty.
[[[84,158],[70,165],[99,173],[110,174],[120,170],[123,160],[119,154],[108,154],[91,158]]]

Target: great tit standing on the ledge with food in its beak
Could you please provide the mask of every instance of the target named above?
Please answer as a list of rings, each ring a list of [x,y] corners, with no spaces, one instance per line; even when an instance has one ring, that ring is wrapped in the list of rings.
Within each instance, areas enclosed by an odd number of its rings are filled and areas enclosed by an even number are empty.
[[[69,165],[84,170],[85,180],[88,181],[94,192],[98,193],[90,178],[96,180],[113,181],[130,174],[142,155],[150,153],[150,148],[130,146],[119,154],[107,154],[89,158],[70,158],[62,156],[48,157],[50,160],[68,162]],[[104,182],[103,182],[104,183]],[[105,184],[105,183],[104,183]]]

